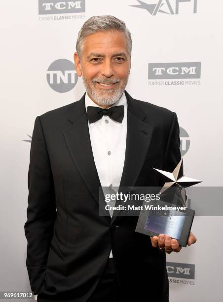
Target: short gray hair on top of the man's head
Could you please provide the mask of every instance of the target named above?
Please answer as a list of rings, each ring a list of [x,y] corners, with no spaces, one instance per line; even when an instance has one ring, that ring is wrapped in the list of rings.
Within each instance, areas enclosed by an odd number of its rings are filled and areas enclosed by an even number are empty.
[[[127,29],[125,25],[125,22],[119,20],[118,18],[115,18],[114,16],[108,15],[108,16],[93,16],[84,22],[78,33],[78,37],[76,41],[76,52],[79,58],[81,57],[82,54],[84,38],[99,31],[106,32],[112,30],[121,32],[125,35],[127,39],[128,52],[131,55],[132,38],[131,38],[130,31]]]

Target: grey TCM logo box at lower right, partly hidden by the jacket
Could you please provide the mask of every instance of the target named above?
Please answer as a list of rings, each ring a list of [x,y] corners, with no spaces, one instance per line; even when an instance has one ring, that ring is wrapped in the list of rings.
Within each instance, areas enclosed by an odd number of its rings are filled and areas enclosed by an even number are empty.
[[[167,262],[168,277],[194,279],[195,264]]]

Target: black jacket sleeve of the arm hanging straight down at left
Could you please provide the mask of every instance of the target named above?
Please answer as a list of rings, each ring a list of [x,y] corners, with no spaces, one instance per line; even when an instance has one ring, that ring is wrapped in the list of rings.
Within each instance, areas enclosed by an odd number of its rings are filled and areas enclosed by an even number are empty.
[[[28,208],[24,225],[27,238],[26,266],[31,290],[42,285],[56,218],[55,190],[40,117],[35,120],[28,171]]]

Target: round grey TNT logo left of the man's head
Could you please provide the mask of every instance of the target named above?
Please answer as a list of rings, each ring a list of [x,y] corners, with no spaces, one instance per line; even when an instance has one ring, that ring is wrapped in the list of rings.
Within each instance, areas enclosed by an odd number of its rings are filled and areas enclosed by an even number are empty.
[[[57,92],[72,90],[77,82],[74,63],[66,59],[54,61],[47,70],[46,78],[49,86]]]

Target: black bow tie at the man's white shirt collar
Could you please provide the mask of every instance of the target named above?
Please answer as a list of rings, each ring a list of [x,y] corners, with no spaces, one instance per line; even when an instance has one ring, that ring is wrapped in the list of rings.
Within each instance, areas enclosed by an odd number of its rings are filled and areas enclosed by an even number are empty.
[[[113,120],[121,123],[124,117],[124,106],[113,106],[109,109],[95,106],[87,107],[87,118],[90,124],[102,118],[103,115],[109,115]]]

